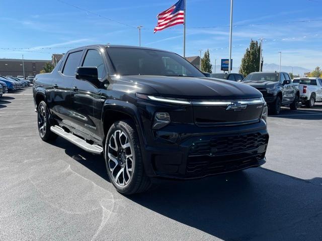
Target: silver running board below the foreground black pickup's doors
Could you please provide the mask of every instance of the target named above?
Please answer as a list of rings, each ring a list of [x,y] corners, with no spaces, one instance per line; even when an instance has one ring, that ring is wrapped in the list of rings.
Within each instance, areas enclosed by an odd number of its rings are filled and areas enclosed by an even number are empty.
[[[58,126],[53,126],[50,127],[50,131],[53,133],[57,134],[58,136],[66,139],[67,141],[71,142],[72,144],[76,145],[79,148],[82,148],[83,150],[94,153],[94,154],[101,154],[103,152],[103,148],[97,145],[91,145],[87,143],[85,140],[76,137],[70,133],[67,133],[62,129],[61,127]]]

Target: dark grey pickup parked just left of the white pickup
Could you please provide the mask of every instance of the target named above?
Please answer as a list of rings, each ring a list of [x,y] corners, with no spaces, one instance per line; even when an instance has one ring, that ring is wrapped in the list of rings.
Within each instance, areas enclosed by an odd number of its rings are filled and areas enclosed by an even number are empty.
[[[286,72],[250,73],[243,83],[261,91],[272,114],[279,114],[282,105],[289,105],[292,110],[297,109],[299,86],[292,83]]]

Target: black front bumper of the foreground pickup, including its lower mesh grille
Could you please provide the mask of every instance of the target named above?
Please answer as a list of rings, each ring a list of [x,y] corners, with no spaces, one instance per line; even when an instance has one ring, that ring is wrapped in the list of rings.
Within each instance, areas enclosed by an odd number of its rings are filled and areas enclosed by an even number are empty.
[[[175,179],[258,167],[266,162],[269,135],[263,122],[239,127],[168,126],[145,146],[144,167],[148,176]],[[186,130],[186,132],[174,132]],[[170,144],[172,142],[172,144]]]

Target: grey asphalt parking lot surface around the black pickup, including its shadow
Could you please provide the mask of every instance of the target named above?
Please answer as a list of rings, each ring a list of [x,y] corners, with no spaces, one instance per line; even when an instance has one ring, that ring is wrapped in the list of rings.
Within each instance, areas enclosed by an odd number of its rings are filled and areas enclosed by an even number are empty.
[[[268,117],[261,168],[128,197],[36,117],[32,87],[0,98],[0,240],[322,240],[322,104]]]

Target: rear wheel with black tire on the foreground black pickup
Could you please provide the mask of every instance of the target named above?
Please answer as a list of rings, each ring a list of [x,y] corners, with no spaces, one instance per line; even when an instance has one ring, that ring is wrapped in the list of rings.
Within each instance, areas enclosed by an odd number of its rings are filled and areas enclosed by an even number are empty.
[[[37,109],[38,133],[41,140],[45,142],[53,141],[57,135],[50,131],[49,110],[45,101],[38,104]]]

